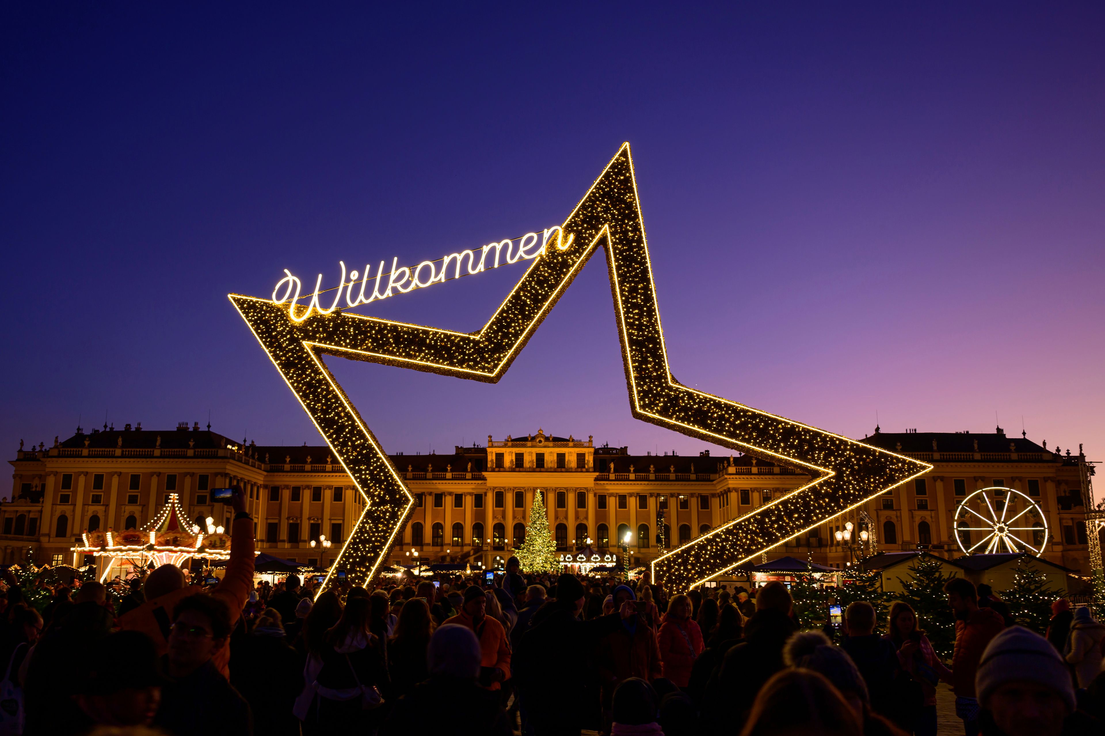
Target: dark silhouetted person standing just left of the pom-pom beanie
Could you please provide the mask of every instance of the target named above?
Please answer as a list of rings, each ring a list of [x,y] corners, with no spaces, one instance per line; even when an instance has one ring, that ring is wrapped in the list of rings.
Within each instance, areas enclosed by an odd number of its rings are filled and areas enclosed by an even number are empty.
[[[715,732],[736,716],[743,721],[756,693],[783,668],[782,648],[798,627],[790,617],[793,601],[777,580],[757,591],[756,614],[745,626],[745,639],[725,653],[722,665],[706,683],[703,719]]]

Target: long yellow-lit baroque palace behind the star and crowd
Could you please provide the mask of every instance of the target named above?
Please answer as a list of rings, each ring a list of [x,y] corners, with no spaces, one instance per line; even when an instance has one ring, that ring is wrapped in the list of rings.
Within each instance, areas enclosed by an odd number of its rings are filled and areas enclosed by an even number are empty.
[[[977,489],[1007,487],[1039,504],[1029,542],[1046,534],[1043,556],[1076,575],[1090,574],[1085,511],[1092,468],[1081,452],[1061,455],[1022,437],[993,434],[883,433],[864,442],[934,466],[924,477],[789,540],[770,557],[844,567],[857,555],[925,550],[954,558],[956,508]],[[543,493],[558,548],[629,553],[632,566],[663,550],[741,516],[810,478],[791,468],[730,457],[630,455],[596,447],[592,438],[533,435],[487,437],[486,447],[452,455],[392,455],[417,508],[391,553],[396,565],[498,567],[519,546],[535,493]],[[362,509],[359,494],[326,446],[244,445],[181,423],[152,431],[77,430],[53,447],[20,449],[10,461],[12,501],[0,504],[4,563],[82,564],[71,547],[84,530],[140,527],[176,493],[189,518],[230,526],[229,506],[212,504],[212,488],[242,484],[256,520],[259,550],[304,565],[327,566]],[[1029,505],[1011,497],[1010,511]],[[862,548],[835,532],[852,522]],[[1046,531],[1044,531],[1044,526]],[[971,532],[960,532],[970,537]],[[980,537],[976,534],[974,544]],[[325,535],[333,548],[311,546]],[[853,542],[857,540],[853,538]],[[966,540],[964,540],[966,541]],[[968,544],[968,546],[970,546]],[[979,550],[981,551],[981,550]]]

